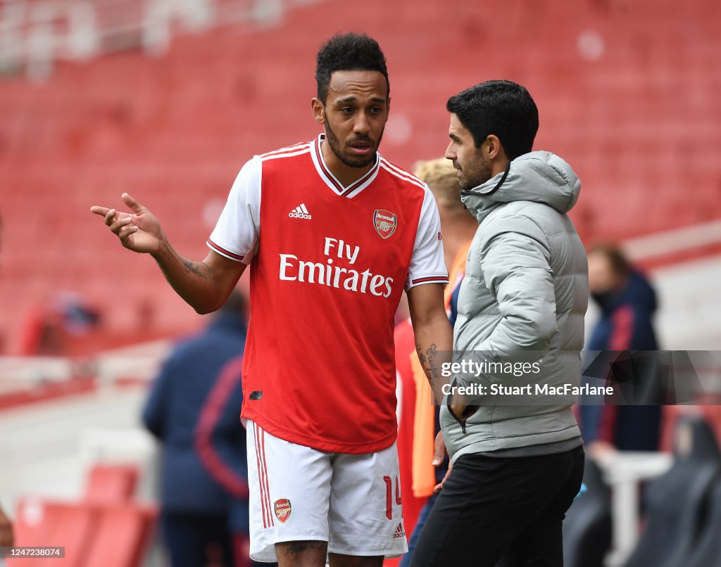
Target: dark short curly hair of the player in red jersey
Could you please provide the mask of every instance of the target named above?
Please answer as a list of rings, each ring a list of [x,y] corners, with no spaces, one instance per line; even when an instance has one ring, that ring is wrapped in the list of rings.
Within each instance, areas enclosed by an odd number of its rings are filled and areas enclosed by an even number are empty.
[[[323,104],[334,71],[379,71],[386,78],[386,96],[391,94],[386,58],[373,37],[353,32],[336,34],[318,50],[316,61],[318,98]]]

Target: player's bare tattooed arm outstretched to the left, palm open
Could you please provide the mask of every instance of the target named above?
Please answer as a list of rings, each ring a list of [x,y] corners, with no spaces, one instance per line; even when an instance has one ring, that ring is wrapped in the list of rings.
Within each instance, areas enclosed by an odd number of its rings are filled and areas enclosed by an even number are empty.
[[[168,242],[159,220],[128,193],[123,202],[132,213],[94,206],[110,231],[129,250],[151,254],[173,289],[198,313],[216,311],[230,295],[245,264],[211,251],[203,262],[182,258]]]

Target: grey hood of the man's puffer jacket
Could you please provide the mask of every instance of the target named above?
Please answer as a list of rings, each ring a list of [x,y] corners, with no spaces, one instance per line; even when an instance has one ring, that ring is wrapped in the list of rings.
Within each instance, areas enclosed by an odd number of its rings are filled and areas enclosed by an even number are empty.
[[[580,179],[566,161],[548,151],[532,151],[509,161],[503,173],[462,191],[461,200],[481,222],[498,205],[513,201],[541,202],[567,213],[580,190]]]

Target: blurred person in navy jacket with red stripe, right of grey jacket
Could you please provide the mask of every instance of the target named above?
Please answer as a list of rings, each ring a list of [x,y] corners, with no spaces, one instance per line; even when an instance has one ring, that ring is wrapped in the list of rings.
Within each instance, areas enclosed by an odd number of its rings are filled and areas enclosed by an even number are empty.
[[[601,314],[585,349],[658,350],[655,290],[619,246],[600,243],[588,251],[588,287]],[[659,405],[578,406],[586,450],[592,456],[614,449],[658,450],[661,410]]]

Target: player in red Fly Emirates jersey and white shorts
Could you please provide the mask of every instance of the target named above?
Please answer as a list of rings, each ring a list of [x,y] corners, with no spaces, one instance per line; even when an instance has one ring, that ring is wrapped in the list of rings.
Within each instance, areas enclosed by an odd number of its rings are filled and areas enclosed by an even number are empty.
[[[407,550],[394,313],[405,290],[441,399],[448,272],[433,195],[378,153],[390,108],[378,43],[333,36],[317,53],[316,79],[311,110],[324,133],[243,166],[203,262],[177,254],[127,193],[132,213],[91,211],[123,246],[151,254],[199,313],[224,303],[251,266],[242,417],[252,558],[378,567]]]

